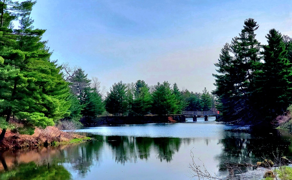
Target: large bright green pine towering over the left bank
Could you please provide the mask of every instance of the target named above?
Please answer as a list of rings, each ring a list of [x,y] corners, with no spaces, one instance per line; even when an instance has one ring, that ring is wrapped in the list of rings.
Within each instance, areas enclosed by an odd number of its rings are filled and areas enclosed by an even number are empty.
[[[7,4],[6,4],[7,3]],[[0,116],[8,123],[14,114],[25,125],[53,125],[68,116],[70,94],[60,68],[29,17],[35,2],[0,2]],[[19,20],[14,29],[13,20]],[[3,128],[3,127],[2,127]],[[0,142],[6,128],[2,129]]]

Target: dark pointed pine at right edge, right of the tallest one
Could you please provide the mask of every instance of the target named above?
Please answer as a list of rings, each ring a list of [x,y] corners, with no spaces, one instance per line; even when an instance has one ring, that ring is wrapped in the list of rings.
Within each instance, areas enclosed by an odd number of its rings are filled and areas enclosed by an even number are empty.
[[[268,45],[263,46],[265,63],[256,76],[253,102],[263,118],[272,120],[292,103],[292,64],[287,59],[281,33],[271,29],[266,38]]]

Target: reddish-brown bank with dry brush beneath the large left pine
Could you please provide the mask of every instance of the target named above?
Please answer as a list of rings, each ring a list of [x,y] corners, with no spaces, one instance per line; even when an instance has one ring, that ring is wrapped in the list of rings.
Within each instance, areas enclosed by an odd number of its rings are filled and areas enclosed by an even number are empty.
[[[2,130],[0,129],[0,133]],[[33,135],[19,134],[7,130],[0,149],[23,148],[29,146],[46,146],[53,141],[70,141],[73,138],[84,138],[78,134],[60,131],[57,127],[48,126],[46,129],[36,128]]]

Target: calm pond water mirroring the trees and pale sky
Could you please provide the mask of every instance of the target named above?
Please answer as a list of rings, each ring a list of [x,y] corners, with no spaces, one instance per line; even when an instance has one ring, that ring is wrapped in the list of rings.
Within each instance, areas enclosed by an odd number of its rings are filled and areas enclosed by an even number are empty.
[[[0,152],[0,179],[183,180],[190,179],[191,151],[196,162],[200,158],[209,170],[223,176],[228,176],[225,162],[256,163],[277,149],[292,156],[288,131],[260,132],[212,119],[187,120],[90,127],[78,131],[99,141]],[[247,174],[260,179],[262,172]]]

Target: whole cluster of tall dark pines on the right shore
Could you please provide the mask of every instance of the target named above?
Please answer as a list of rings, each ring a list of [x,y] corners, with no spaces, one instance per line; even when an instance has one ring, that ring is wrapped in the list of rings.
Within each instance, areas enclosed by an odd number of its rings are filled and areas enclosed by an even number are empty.
[[[213,94],[227,121],[269,122],[291,104],[291,38],[271,29],[268,44],[261,45],[258,27],[254,19],[246,19],[239,37],[225,44],[215,63]]]

